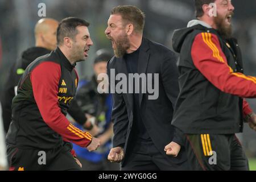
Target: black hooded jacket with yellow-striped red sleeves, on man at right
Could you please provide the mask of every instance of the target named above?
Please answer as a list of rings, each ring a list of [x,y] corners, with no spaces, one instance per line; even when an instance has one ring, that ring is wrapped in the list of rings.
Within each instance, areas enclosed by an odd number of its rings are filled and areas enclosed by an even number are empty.
[[[179,86],[172,124],[188,134],[242,132],[251,113],[244,97],[256,97],[256,78],[243,75],[236,39],[224,39],[200,20],[176,30]]]

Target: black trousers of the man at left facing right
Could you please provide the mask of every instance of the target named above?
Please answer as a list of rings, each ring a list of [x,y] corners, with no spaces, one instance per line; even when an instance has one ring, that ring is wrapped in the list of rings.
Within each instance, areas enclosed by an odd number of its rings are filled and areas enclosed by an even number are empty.
[[[22,149],[7,146],[11,171],[74,171],[81,170],[71,154],[70,144],[52,150]]]

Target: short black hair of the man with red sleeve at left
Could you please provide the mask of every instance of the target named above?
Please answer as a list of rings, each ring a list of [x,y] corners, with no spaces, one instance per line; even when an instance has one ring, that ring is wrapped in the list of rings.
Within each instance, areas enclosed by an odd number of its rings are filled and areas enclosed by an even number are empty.
[[[61,20],[59,26],[57,27],[57,45],[63,44],[63,39],[69,37],[75,39],[75,36],[78,34],[76,27],[85,26],[88,27],[90,23],[86,22],[83,19],[76,17],[68,17]]]

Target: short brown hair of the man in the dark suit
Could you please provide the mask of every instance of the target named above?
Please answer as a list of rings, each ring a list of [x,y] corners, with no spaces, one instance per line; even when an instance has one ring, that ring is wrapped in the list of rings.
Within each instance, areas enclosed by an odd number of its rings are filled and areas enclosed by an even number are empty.
[[[138,7],[130,5],[115,6],[112,9],[111,14],[121,15],[122,19],[125,21],[124,25],[132,23],[136,32],[143,32],[145,14],[138,9]]]

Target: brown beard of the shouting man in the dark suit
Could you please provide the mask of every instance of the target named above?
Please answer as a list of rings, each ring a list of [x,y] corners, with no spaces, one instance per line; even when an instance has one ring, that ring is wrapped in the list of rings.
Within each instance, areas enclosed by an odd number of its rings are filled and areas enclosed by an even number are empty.
[[[117,48],[114,50],[114,53],[115,57],[122,57],[130,47],[130,43],[127,35],[120,36],[118,39],[119,40],[115,42],[117,44]]]

